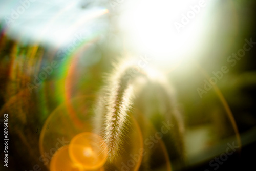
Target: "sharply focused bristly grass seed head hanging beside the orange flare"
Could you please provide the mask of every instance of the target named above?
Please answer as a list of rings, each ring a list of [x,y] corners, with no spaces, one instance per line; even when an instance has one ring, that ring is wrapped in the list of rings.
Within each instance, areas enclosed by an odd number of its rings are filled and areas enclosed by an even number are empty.
[[[101,129],[103,138],[108,147],[110,161],[115,159],[122,149],[125,138],[125,126],[129,123],[128,114],[134,97],[135,84],[139,78],[146,78],[144,74],[134,72],[133,65],[122,62],[116,65],[114,72],[106,78],[106,86],[97,117],[103,119]],[[102,121],[100,121],[102,123]]]

